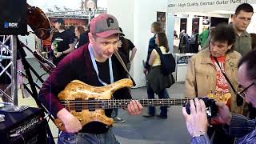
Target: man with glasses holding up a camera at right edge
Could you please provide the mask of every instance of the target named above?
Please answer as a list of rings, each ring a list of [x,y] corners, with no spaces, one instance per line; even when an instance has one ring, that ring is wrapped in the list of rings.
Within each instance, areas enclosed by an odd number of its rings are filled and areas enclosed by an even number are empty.
[[[238,62],[238,86],[241,89],[238,96],[245,98],[246,102],[256,107],[256,51],[250,51]],[[227,134],[237,137],[237,144],[256,143],[256,119],[249,119],[243,115],[230,112],[228,106],[222,102],[216,102],[218,116],[213,118],[222,123],[223,130]],[[210,144],[210,138],[206,135],[208,120],[206,106],[198,98],[190,100],[190,114],[186,108],[182,108],[182,114],[186,119],[186,128],[192,136],[191,144]],[[223,138],[219,143],[225,143]]]

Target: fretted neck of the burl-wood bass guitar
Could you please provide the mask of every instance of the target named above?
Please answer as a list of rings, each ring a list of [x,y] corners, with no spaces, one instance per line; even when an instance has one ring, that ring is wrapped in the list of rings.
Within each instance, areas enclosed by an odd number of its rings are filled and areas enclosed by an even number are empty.
[[[189,98],[138,99],[143,107],[148,106],[182,106]],[[130,99],[102,100],[103,109],[126,108]]]

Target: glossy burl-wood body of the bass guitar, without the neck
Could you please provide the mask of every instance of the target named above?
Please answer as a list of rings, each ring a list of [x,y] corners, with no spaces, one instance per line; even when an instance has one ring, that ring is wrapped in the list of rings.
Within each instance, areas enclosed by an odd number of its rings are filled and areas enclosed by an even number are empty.
[[[95,102],[90,103],[88,100],[111,99],[114,91],[131,86],[133,86],[133,82],[128,78],[119,80],[118,82],[114,82],[107,86],[97,87],[74,80],[66,86],[65,90],[62,90],[58,94],[58,98],[66,109],[69,110],[74,117],[80,120],[82,126],[95,121],[110,126],[114,121],[112,118],[106,117],[104,110],[100,109],[102,108],[102,104]],[[90,106],[98,107],[99,109],[90,110]],[[60,130],[65,130],[65,126],[60,119],[55,119],[55,124]]]

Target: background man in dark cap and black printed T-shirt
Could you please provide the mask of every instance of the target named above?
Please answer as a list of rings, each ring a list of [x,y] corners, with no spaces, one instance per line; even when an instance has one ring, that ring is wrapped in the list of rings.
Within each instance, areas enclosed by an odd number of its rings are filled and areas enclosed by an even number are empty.
[[[51,39],[51,49],[54,50],[53,63],[58,65],[67,54],[74,50],[70,32],[65,30],[64,20],[57,18],[54,20],[54,26],[58,32],[55,32]]]

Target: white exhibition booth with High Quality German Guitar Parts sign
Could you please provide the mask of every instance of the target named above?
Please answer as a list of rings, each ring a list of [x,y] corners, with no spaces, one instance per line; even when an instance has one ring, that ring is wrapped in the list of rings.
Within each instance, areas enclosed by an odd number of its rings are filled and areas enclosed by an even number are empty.
[[[230,0],[230,1],[191,1],[191,0],[177,0],[169,1],[167,9],[167,23],[169,34],[169,43],[171,48],[176,48],[179,45],[179,39],[173,38],[174,30],[179,35],[182,30],[186,31],[190,37],[193,35],[193,31],[198,29],[198,34],[201,34],[203,30],[210,28],[210,25],[214,23],[214,26],[218,23],[230,23],[232,22],[232,14],[238,5],[243,2],[248,2],[252,6],[256,7],[255,1],[241,1],[241,0]],[[255,8],[254,8],[255,10]],[[250,22],[250,26],[247,31],[249,33],[256,32],[256,18]],[[200,46],[198,46],[200,50]],[[177,62],[175,78],[177,82],[184,82],[186,76],[186,66],[188,58],[194,54],[185,53],[179,54],[178,50],[172,50],[175,55]]]

